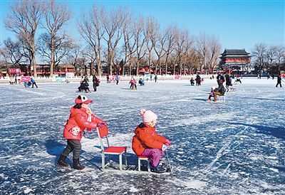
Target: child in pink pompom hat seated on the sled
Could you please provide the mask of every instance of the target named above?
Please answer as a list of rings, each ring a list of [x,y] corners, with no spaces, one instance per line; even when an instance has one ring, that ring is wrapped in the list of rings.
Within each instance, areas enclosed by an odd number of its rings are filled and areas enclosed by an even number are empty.
[[[159,166],[165,149],[170,146],[170,140],[157,135],[155,125],[157,115],[150,110],[141,109],[142,122],[135,129],[132,148],[138,156],[149,157],[152,172],[163,173],[165,169]]]

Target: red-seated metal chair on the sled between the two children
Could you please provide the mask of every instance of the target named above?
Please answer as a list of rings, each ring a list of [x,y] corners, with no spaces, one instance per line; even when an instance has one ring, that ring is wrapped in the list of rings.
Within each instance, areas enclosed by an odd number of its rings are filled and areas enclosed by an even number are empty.
[[[105,126],[105,125],[104,125]],[[110,165],[110,155],[118,155],[119,156],[119,164],[120,164],[120,171],[123,171],[123,154],[125,153],[125,166],[127,166],[127,147],[112,147],[109,144],[108,140],[108,128],[105,126],[103,128],[97,127],[97,132],[99,136],[101,152],[102,152],[102,169],[105,170],[105,167]],[[105,148],[103,144],[103,137],[106,138],[108,147]],[[105,164],[105,154],[108,154],[108,163]]]

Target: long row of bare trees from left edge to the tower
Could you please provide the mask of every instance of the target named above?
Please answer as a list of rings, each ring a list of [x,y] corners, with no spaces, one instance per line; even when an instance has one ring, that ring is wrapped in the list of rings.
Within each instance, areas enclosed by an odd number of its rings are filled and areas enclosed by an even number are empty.
[[[16,33],[1,48],[6,62],[21,65],[28,61],[36,76],[36,56],[50,64],[50,72],[59,63],[71,63],[81,73],[102,70],[138,75],[147,66],[155,74],[189,73],[212,70],[218,64],[221,44],[216,36],[190,34],[186,28],[170,25],[162,28],[152,16],[134,16],[127,8],[106,10],[94,4],[81,11],[78,32],[84,43],[75,41],[65,31],[71,10],[58,1],[19,0],[11,4],[5,25]],[[38,35],[38,28],[44,32]],[[36,55],[37,54],[37,55]],[[106,67],[103,67],[106,65]],[[76,69],[77,70],[77,69]]]

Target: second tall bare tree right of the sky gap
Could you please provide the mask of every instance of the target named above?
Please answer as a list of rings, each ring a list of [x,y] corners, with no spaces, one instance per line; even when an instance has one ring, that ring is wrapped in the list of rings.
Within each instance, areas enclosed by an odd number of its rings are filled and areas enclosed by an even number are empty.
[[[123,9],[117,9],[110,11],[103,17],[103,27],[105,28],[106,35],[103,36],[107,43],[107,63],[109,65],[109,73],[113,74],[114,58],[116,53],[116,48],[123,36],[122,26],[125,17],[123,14]]]

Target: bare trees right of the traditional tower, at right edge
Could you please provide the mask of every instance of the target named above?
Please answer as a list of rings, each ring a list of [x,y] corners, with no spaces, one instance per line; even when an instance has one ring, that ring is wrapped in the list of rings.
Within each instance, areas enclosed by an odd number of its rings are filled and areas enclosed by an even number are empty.
[[[259,70],[262,68],[270,70],[274,66],[278,66],[280,70],[281,64],[285,62],[285,46],[269,46],[259,43],[254,46],[252,56]]]

